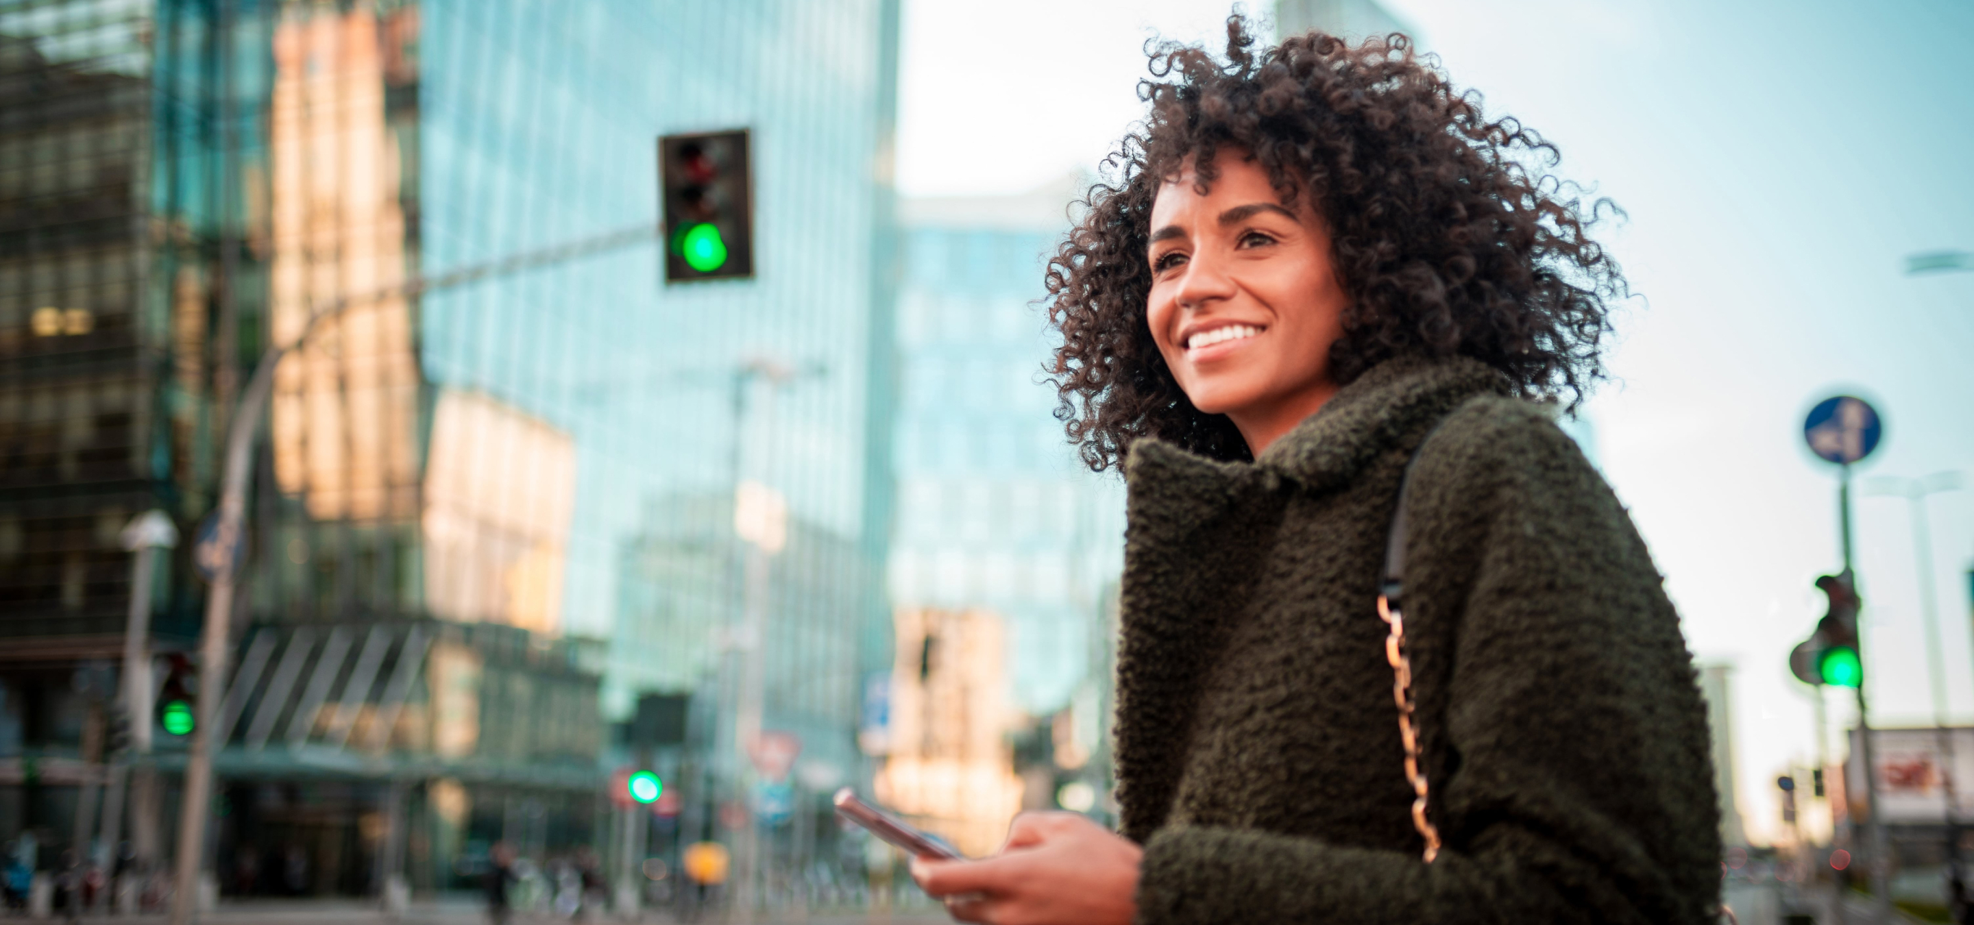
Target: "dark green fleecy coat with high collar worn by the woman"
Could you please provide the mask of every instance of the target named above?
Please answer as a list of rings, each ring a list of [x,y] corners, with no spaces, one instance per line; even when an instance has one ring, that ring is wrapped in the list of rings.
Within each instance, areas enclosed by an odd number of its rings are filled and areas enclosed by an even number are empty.
[[[1427,432],[1405,635],[1433,864],[1376,611]],[[1125,471],[1115,757],[1141,923],[1713,919],[1680,619],[1597,469],[1502,377],[1382,363],[1253,463],[1147,440]]]

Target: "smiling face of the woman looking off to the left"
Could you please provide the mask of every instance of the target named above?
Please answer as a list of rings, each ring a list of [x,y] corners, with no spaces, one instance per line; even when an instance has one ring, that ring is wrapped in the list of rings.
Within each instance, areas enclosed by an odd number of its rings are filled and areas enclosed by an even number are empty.
[[[1147,320],[1192,404],[1259,456],[1336,392],[1330,343],[1348,302],[1311,195],[1281,205],[1267,170],[1220,152],[1200,195],[1188,162],[1151,207]]]

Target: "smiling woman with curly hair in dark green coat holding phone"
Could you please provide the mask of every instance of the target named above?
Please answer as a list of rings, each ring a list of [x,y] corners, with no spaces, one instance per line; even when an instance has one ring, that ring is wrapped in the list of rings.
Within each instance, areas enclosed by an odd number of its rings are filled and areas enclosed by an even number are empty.
[[[1554,424],[1625,296],[1597,207],[1402,37],[1250,43],[1157,53],[1048,276],[1060,416],[1131,491],[1121,834],[1028,815],[916,880],[987,923],[1711,919],[1678,615]]]

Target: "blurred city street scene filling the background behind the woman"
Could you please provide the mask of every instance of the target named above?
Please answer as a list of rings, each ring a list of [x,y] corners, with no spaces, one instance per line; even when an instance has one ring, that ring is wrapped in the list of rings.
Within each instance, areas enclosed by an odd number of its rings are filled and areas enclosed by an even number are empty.
[[[1046,274],[1230,4],[1011,4],[0,0],[6,913],[932,923],[839,789],[1115,824]],[[1974,8],[1246,8],[1411,36],[1623,209],[1552,412],[1680,611],[1727,901],[1948,921]]]

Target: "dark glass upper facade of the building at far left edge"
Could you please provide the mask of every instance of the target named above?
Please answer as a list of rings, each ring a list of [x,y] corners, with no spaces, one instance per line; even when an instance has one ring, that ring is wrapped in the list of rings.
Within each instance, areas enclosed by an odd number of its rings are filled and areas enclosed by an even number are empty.
[[[0,635],[28,647],[120,641],[122,521],[197,503],[209,465],[205,318],[154,280],[195,302],[217,203],[152,162],[197,120],[152,93],[178,51],[154,28],[148,4],[0,4]],[[158,631],[184,633],[193,602],[160,596]]]

